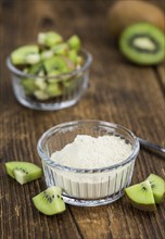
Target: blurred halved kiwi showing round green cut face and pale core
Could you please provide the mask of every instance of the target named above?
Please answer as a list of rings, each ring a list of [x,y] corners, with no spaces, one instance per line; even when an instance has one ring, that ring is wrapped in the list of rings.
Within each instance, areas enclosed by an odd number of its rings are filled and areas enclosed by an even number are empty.
[[[131,62],[154,65],[165,59],[165,35],[152,24],[134,24],[120,35],[119,48]]]

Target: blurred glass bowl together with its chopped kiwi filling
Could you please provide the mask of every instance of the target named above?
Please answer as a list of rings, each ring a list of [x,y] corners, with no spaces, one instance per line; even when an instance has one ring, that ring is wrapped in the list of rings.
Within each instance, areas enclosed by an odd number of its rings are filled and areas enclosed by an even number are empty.
[[[86,92],[91,54],[74,35],[39,33],[37,43],[15,49],[7,60],[17,101],[34,110],[55,111],[77,103]]]

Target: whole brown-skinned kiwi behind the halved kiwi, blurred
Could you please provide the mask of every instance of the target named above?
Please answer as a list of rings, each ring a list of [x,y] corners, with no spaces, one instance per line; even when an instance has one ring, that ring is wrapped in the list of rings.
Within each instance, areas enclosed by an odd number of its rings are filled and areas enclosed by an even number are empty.
[[[165,14],[148,1],[116,1],[109,10],[106,25],[113,38],[119,37],[125,27],[138,22],[148,22],[165,32]]]

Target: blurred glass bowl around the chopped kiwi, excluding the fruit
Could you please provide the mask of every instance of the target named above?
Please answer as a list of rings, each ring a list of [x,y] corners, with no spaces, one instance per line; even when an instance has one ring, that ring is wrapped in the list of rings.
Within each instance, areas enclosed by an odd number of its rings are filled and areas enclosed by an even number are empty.
[[[17,101],[24,106],[41,111],[61,110],[77,103],[77,101],[80,100],[88,87],[89,66],[92,61],[91,54],[85,49],[81,50],[80,55],[84,59],[84,64],[80,68],[75,70],[71,73],[51,77],[28,75],[17,70],[12,64],[11,59],[8,58],[7,65],[11,72],[13,91]],[[24,79],[27,78],[31,78],[34,80],[38,80],[39,78],[46,81],[51,81],[55,78],[54,84],[59,84],[60,88],[62,88],[62,93],[55,97],[51,97],[49,99],[38,100],[34,96],[29,96],[26,93],[26,90],[22,83]]]

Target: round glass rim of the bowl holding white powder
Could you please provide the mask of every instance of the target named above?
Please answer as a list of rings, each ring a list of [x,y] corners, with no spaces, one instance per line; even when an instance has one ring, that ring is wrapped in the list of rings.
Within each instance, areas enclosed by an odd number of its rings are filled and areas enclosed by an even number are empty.
[[[122,161],[120,163],[117,164],[113,164],[111,166],[106,166],[106,167],[99,167],[99,168],[77,168],[77,167],[69,167],[69,166],[65,166],[62,164],[58,164],[54,161],[52,161],[49,156],[47,156],[42,150],[42,142],[43,140],[47,138],[50,138],[53,134],[55,134],[59,129],[61,129],[62,127],[66,127],[66,126],[74,126],[74,125],[78,125],[78,124],[88,124],[88,123],[94,123],[96,125],[104,125],[104,126],[109,126],[111,128],[119,128],[124,131],[126,131],[135,141],[134,146],[132,146],[132,150],[129,154],[129,156]],[[122,167],[125,164],[129,163],[130,161],[136,160],[136,156],[138,155],[140,150],[140,142],[138,137],[136,137],[136,135],[130,131],[128,128],[118,125],[118,124],[114,124],[114,123],[110,123],[110,122],[104,122],[104,121],[98,121],[98,120],[80,120],[80,121],[72,121],[72,122],[66,122],[66,123],[62,123],[59,124],[56,126],[53,126],[51,128],[49,128],[47,131],[45,131],[42,134],[42,136],[39,138],[38,143],[37,143],[37,151],[39,156],[41,158],[41,160],[48,164],[49,167],[54,167],[56,169],[60,171],[65,171],[65,172],[73,172],[73,173],[81,173],[81,174],[92,174],[92,173],[103,173],[103,172],[109,172],[109,171],[113,171],[116,169],[117,167]]]

